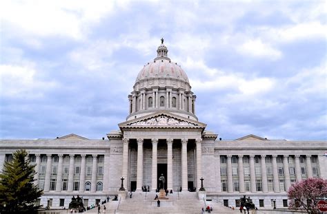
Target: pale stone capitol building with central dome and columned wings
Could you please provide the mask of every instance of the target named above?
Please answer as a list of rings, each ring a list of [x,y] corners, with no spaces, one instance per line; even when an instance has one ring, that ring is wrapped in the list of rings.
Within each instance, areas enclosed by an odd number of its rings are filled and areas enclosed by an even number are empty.
[[[126,86],[128,87],[128,86]],[[197,118],[197,96],[186,72],[168,57],[164,41],[157,57],[136,77],[128,95],[126,121],[108,139],[69,134],[54,139],[0,140],[0,164],[26,149],[36,164],[35,184],[43,189],[39,204],[68,208],[72,195],[84,206],[126,191],[150,193],[165,188],[206,200],[239,206],[250,196],[257,208],[287,208],[291,184],[306,178],[327,179],[326,141],[270,140],[249,133],[222,140]],[[267,121],[268,122],[268,121]],[[230,127],[232,129],[232,127]],[[201,198],[199,199],[201,200]]]

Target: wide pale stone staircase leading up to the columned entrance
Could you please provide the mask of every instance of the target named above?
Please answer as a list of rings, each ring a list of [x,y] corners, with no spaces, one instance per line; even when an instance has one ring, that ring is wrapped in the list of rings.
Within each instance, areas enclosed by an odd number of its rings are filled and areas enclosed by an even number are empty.
[[[152,213],[201,213],[201,208],[211,206],[211,213],[237,213],[230,208],[222,206],[216,202],[199,201],[197,193],[181,192],[167,195],[167,199],[160,199],[160,207],[157,206],[153,192],[133,192],[132,198],[127,195],[126,200],[110,201],[101,205],[101,213],[106,206],[106,213],[135,213],[135,214],[152,214]],[[97,213],[98,209],[93,208],[86,213]],[[208,213],[208,212],[206,212]]]

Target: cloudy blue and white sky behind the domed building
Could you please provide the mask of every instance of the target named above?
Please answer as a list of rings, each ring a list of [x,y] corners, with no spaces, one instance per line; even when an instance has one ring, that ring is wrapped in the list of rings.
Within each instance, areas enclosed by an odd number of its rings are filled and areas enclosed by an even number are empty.
[[[143,65],[188,75],[223,140],[327,140],[326,1],[1,1],[0,139],[101,139]]]

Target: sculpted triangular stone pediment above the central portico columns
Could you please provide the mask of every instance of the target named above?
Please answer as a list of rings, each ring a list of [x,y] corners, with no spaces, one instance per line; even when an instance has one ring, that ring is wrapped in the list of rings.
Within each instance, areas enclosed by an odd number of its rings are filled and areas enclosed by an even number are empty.
[[[119,127],[195,127],[205,128],[206,124],[170,113],[155,113],[134,120],[121,122]]]

